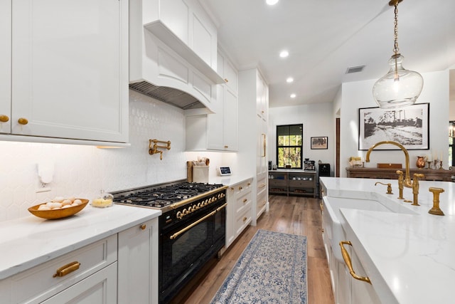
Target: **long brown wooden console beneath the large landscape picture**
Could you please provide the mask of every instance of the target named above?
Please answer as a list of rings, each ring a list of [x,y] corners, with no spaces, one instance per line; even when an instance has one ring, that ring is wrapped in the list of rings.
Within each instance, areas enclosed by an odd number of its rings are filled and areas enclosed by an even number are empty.
[[[397,170],[401,170],[403,174],[406,169],[391,169],[391,168],[364,168],[364,167],[346,167],[348,177],[361,177],[365,179],[398,179]],[[427,181],[442,181],[452,182],[452,174],[455,175],[453,170],[446,169],[417,169],[411,168],[410,175],[414,173],[422,173],[425,175],[424,180]]]

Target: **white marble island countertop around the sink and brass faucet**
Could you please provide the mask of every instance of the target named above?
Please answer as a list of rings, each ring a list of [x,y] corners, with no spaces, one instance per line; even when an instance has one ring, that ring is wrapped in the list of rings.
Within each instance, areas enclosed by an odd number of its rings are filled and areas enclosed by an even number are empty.
[[[369,199],[372,194],[387,196],[417,212],[396,214],[380,211],[340,209],[373,287],[383,303],[454,303],[455,283],[455,183],[419,182],[419,204],[412,206],[397,199],[397,180],[321,177],[326,195]],[[392,184],[393,195],[375,182]],[[445,190],[440,208],[445,216],[429,214],[433,195],[429,187]],[[412,189],[405,188],[412,200]]]

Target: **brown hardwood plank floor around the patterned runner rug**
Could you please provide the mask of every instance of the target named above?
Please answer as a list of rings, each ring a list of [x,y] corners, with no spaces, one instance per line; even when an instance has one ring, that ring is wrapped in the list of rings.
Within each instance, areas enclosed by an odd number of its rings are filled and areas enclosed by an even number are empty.
[[[257,226],[249,226],[220,259],[213,259],[172,303],[207,304],[230,273],[257,229],[307,236],[308,303],[333,304],[330,273],[321,233],[319,199],[301,196],[269,196],[270,208]]]

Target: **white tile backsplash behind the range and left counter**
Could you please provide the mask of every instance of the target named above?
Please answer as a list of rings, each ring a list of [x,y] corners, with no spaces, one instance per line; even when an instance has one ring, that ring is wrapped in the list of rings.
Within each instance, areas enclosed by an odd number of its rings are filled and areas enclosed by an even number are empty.
[[[171,150],[149,155],[149,139],[170,140]],[[0,142],[0,221],[28,216],[27,208],[55,196],[93,199],[106,192],[186,178],[183,110],[129,92],[131,147]],[[49,192],[37,193],[38,163],[53,164]]]

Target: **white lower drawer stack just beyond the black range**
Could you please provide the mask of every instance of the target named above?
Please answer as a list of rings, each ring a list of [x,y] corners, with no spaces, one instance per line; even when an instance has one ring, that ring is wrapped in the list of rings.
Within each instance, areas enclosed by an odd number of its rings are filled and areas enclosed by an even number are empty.
[[[252,220],[252,178],[233,184],[226,195],[226,245],[237,239]]]

